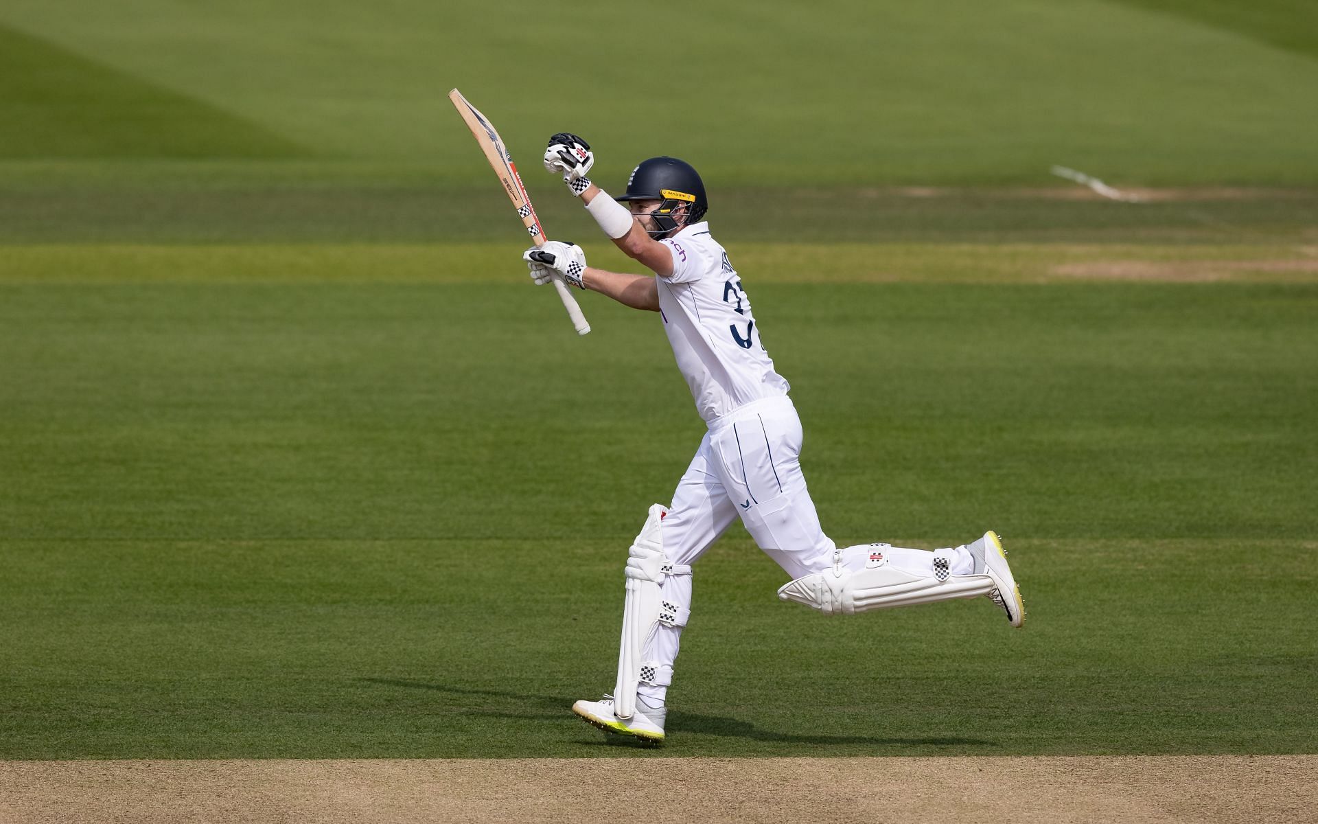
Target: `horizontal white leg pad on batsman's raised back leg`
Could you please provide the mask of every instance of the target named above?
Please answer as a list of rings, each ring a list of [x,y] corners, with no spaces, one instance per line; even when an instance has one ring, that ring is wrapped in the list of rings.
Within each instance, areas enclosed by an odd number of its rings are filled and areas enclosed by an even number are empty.
[[[987,595],[994,588],[987,575],[948,575],[938,570],[934,575],[912,575],[894,570],[875,554],[863,570],[847,572],[834,563],[829,572],[816,572],[783,584],[778,597],[813,606],[824,614],[854,614],[888,606],[933,604],[950,599],[973,599]],[[840,558],[840,552],[834,555]]]

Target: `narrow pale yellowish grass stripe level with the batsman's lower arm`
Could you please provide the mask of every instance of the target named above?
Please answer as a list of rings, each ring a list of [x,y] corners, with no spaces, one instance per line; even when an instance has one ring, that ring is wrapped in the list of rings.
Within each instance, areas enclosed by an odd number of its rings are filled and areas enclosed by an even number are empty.
[[[728,250],[747,286],[1318,282],[1318,244],[733,241]],[[604,244],[592,248],[590,264],[616,272],[638,270],[638,264]],[[374,282],[529,286],[525,273],[518,247],[509,243],[22,244],[4,247],[0,258],[0,285]],[[587,307],[601,303],[596,295],[583,298]]]

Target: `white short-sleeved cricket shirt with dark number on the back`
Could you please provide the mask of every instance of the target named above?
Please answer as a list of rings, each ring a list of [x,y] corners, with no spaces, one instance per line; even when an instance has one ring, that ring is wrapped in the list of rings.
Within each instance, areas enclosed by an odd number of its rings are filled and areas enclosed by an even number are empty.
[[[659,243],[672,253],[672,274],[655,276],[659,315],[705,423],[786,396],[791,386],[774,372],[750,298],[709,224],[693,223]]]

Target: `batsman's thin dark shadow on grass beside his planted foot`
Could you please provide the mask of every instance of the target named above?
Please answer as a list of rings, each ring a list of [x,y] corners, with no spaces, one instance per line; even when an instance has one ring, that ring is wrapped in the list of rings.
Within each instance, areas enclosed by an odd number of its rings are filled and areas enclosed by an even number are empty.
[[[467,715],[492,716],[501,719],[531,719],[531,720],[561,720],[569,704],[558,695],[527,695],[525,692],[510,692],[507,690],[478,690],[471,687],[448,687],[428,682],[407,680],[401,678],[360,678],[357,680],[385,687],[406,687],[409,690],[432,690],[449,695],[484,695],[492,697],[515,699],[529,704],[542,712],[507,712],[496,708],[472,708]],[[720,736],[726,738],[749,738],[751,741],[771,741],[775,744],[812,744],[826,745],[862,745],[862,746],[998,746],[996,741],[983,738],[961,737],[928,737],[928,738],[880,738],[875,736],[796,736],[779,733],[768,729],[759,729],[750,721],[728,719],[724,716],[706,716],[695,712],[675,712],[668,716],[667,728],[670,733],[684,732],[704,736]],[[631,744],[621,737],[610,736],[592,745]]]

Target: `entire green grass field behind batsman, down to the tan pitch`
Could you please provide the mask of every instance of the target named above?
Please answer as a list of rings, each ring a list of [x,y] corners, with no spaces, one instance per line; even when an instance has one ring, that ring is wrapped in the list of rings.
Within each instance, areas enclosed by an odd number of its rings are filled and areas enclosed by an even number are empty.
[[[568,708],[702,425],[452,86],[594,264],[548,133],[704,171],[836,539],[1012,551],[1021,632],[826,620],[734,527],[668,754],[1318,751],[1318,28],[1251,9],[7,3],[0,758],[639,753]]]

